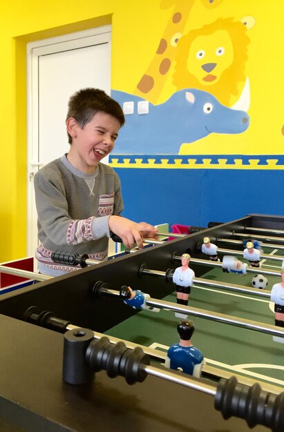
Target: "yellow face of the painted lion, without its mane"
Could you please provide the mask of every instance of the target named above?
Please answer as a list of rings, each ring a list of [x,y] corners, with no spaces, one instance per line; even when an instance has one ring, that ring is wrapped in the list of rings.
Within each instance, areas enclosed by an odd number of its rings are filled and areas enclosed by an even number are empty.
[[[202,86],[216,84],[234,61],[234,48],[226,30],[211,35],[198,35],[191,43],[187,70]]]

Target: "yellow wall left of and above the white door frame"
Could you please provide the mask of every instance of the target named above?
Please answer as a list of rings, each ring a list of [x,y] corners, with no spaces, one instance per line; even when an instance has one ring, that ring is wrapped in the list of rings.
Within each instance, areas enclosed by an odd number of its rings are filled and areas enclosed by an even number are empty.
[[[75,0],[12,0],[1,5],[0,262],[26,256],[26,43],[110,23],[117,5],[123,15],[129,3],[84,1],[82,7]]]

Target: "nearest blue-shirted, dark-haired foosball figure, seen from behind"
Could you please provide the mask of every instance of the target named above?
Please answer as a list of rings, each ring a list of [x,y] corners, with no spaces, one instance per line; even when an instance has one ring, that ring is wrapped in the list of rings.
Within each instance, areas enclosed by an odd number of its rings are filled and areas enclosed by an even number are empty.
[[[201,351],[191,343],[194,332],[193,322],[180,321],[177,328],[180,342],[169,347],[164,366],[174,371],[200,377],[202,364],[205,364],[205,360]]]

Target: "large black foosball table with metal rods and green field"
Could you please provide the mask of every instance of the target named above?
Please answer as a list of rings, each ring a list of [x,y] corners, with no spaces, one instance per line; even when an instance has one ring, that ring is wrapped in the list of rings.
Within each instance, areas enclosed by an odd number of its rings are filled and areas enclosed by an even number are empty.
[[[205,237],[218,259],[202,253]],[[248,240],[261,242],[261,266],[224,271],[225,256],[245,262]],[[41,282],[0,296],[2,429],[284,431],[284,327],[270,299],[283,248],[284,217],[248,215],[107,262],[55,251],[82,269],[33,273]],[[188,306],[173,284],[184,253],[195,274]],[[258,275],[267,286],[252,285]],[[127,306],[125,287],[146,293],[147,308]],[[177,313],[194,322],[200,377],[164,367]]]

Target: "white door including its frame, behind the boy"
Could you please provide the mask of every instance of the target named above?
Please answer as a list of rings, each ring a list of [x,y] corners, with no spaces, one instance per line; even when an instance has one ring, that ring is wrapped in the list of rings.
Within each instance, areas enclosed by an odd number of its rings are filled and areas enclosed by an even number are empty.
[[[33,176],[68,152],[65,127],[70,95],[80,88],[111,92],[111,26],[28,44],[28,239],[37,247]],[[104,161],[107,163],[108,160]]]

